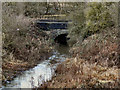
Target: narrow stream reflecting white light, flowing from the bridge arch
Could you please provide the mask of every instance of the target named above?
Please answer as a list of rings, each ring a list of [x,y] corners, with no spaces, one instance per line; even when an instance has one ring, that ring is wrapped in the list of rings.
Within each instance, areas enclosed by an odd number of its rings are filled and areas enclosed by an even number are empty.
[[[13,81],[8,82],[2,89],[9,88],[35,88],[39,87],[44,82],[52,79],[55,75],[55,69],[58,64],[62,63],[69,57],[69,47],[64,45],[56,45],[53,50],[53,55],[49,59],[40,62],[34,68],[31,68],[20,76],[17,76]]]

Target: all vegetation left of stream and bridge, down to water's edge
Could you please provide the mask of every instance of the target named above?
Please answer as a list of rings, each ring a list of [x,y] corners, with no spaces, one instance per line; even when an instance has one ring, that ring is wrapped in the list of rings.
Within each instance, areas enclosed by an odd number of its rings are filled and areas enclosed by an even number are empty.
[[[34,18],[24,15],[24,3],[2,5],[2,69],[6,81],[46,59],[51,49],[48,35],[34,26]]]

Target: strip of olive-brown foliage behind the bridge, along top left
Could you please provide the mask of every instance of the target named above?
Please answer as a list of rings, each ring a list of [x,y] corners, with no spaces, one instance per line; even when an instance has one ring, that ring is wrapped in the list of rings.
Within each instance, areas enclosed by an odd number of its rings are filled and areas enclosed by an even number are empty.
[[[40,18],[43,15],[54,15],[62,13],[60,3],[47,3],[47,2],[5,2],[3,3],[3,10],[8,14],[23,14],[31,18]],[[8,8],[9,7],[9,8]]]

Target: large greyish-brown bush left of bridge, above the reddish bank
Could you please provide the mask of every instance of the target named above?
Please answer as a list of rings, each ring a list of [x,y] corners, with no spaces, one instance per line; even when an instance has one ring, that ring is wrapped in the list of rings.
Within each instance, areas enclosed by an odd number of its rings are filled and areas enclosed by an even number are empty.
[[[17,15],[6,3],[3,8],[3,51],[6,53],[3,57],[7,58],[12,53],[15,59],[40,60],[42,53],[49,50],[48,42],[43,39],[47,35],[33,27],[33,19],[25,17],[23,13]]]

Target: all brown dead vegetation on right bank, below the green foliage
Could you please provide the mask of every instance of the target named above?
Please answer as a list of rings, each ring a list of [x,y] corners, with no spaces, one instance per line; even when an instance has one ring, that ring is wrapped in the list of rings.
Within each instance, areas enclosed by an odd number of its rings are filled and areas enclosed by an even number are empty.
[[[113,28],[78,42],[70,51],[73,58],[60,64],[53,79],[42,87],[120,88],[117,34]]]

